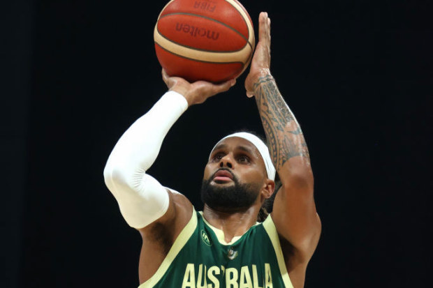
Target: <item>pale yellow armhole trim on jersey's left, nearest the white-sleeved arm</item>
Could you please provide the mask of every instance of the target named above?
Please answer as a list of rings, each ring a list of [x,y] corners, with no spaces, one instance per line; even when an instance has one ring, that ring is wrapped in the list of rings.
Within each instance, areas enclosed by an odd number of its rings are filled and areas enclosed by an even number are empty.
[[[154,287],[156,283],[158,283],[159,280],[163,278],[163,275],[166,274],[175,257],[179,254],[180,250],[184,248],[184,245],[186,244],[186,242],[188,242],[189,238],[191,238],[194,230],[196,230],[196,227],[197,213],[196,209],[193,208],[193,215],[191,217],[191,220],[189,220],[188,224],[186,224],[184,229],[182,229],[182,232],[180,232],[179,236],[177,236],[175,243],[173,243],[173,246],[171,246],[166,258],[164,258],[163,262],[161,263],[161,266],[159,266],[158,270],[156,270],[156,272],[154,273],[154,275],[152,275],[151,278],[138,286],[138,288]]]

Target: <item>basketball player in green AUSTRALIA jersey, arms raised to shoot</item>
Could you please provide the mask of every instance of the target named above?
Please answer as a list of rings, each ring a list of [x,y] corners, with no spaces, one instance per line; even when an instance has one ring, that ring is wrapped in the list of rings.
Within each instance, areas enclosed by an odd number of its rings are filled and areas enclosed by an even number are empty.
[[[256,98],[269,146],[247,132],[221,139],[205,167],[203,212],[146,170],[187,107],[227,91],[235,80],[190,84],[164,71],[163,80],[169,91],[126,130],[104,170],[126,222],[142,236],[140,288],[304,287],[321,222],[302,131],[270,74],[267,13],[259,16],[245,87]],[[274,193],[272,213],[256,222]]]

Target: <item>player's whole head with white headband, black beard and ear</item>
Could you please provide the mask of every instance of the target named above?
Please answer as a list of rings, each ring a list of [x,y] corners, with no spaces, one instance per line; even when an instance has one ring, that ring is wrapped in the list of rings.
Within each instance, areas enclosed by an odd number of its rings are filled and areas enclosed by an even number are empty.
[[[242,211],[261,206],[274,191],[275,168],[266,144],[249,132],[223,137],[212,149],[201,197],[212,209]]]

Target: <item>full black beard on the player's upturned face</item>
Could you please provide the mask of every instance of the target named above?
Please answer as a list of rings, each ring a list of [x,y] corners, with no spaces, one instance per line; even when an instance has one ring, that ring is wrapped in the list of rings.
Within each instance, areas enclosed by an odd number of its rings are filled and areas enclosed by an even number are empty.
[[[260,185],[240,183],[233,176],[233,184],[229,186],[211,185],[214,175],[203,179],[201,185],[201,200],[204,204],[217,211],[233,212],[249,209],[256,201]]]

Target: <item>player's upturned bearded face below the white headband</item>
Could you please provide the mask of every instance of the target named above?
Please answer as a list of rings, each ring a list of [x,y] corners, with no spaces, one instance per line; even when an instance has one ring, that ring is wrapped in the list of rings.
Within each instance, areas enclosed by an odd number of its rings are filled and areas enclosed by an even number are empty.
[[[244,209],[258,199],[267,179],[256,146],[230,137],[219,142],[205,167],[202,200],[213,209]]]

